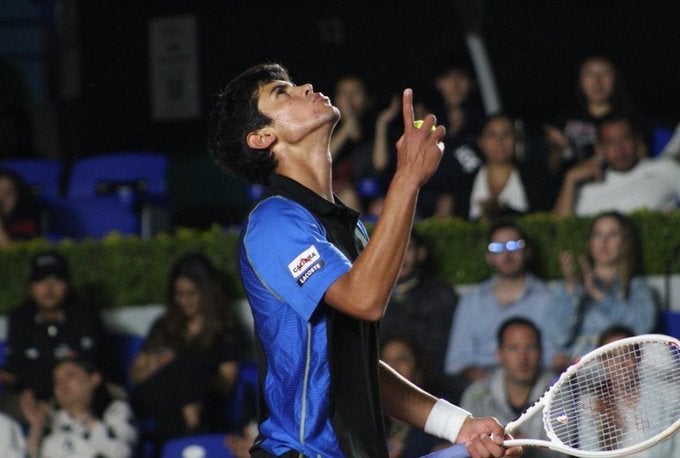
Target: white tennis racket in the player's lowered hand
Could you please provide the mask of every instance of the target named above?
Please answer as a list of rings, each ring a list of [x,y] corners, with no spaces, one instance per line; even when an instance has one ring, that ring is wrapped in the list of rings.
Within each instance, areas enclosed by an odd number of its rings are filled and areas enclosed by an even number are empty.
[[[505,431],[541,410],[550,440],[504,445],[590,458],[625,456],[668,439],[680,428],[680,341],[648,334],[591,351]]]

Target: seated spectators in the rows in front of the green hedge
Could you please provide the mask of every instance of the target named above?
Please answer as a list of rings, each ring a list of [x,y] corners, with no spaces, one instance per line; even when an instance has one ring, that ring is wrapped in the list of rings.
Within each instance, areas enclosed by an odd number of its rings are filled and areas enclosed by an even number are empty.
[[[385,361],[473,414],[510,421],[611,329],[656,329],[658,310],[625,215],[599,214],[585,254],[560,254],[563,278],[554,284],[529,270],[532,243],[512,219],[494,220],[487,241],[479,255],[492,275],[459,295],[431,270],[428,244],[414,233],[381,327]],[[177,259],[167,288],[165,311],[121,368],[98,311],[73,287],[66,259],[56,250],[35,255],[25,300],[9,315],[0,370],[7,437],[29,456],[125,457],[222,432],[225,447],[247,456],[255,400],[235,422],[229,409],[240,366],[254,358],[251,330],[206,254]],[[386,421],[392,457],[446,445]],[[527,424],[515,435],[541,431]],[[144,450],[149,454],[139,455]]]

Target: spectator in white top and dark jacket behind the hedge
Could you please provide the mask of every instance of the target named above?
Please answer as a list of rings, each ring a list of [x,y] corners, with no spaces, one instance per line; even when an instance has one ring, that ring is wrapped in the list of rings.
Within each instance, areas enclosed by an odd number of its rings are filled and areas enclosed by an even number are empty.
[[[512,119],[490,116],[478,139],[486,163],[475,175],[470,219],[492,220],[503,215],[548,209],[545,173],[515,155],[517,137]]]

